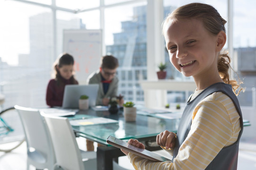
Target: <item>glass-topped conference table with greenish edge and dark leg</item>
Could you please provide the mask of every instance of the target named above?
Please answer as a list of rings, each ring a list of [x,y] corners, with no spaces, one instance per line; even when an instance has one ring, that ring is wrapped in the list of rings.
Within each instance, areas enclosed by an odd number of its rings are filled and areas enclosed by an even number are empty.
[[[157,111],[157,110],[156,110]],[[172,113],[168,113],[172,114]],[[165,113],[161,113],[165,115]],[[135,122],[126,122],[123,111],[119,110],[117,114],[110,114],[109,111],[80,110],[73,117],[69,117],[70,122],[76,120],[80,124],[73,126],[76,136],[82,136],[105,146],[97,148],[97,170],[112,170],[112,161],[118,161],[119,156],[124,153],[119,148],[106,143],[108,136],[115,136],[119,139],[128,141],[128,139],[138,139],[144,143],[147,150],[154,151],[161,148],[156,145],[156,136],[165,130],[176,132],[180,121],[180,116],[175,115],[173,119],[165,119],[160,114],[155,114],[145,110],[137,110],[137,118]],[[86,119],[90,118],[108,118],[115,122],[101,124],[86,124]],[[107,146],[107,147],[106,147]]]

